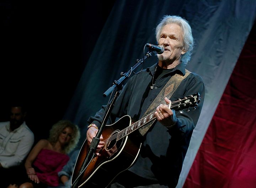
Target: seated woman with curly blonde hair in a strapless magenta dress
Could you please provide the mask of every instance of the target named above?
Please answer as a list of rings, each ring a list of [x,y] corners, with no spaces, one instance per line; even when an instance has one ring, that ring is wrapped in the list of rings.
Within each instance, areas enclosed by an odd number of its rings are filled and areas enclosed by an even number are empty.
[[[33,147],[25,162],[27,181],[19,188],[45,188],[59,185],[58,172],[68,162],[67,155],[80,139],[80,130],[69,120],[60,120],[50,129],[49,139]]]

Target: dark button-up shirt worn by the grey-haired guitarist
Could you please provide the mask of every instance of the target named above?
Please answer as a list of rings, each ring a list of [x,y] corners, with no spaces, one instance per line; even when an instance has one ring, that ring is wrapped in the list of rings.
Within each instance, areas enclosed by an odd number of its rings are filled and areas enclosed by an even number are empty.
[[[159,72],[155,74],[153,81],[156,66],[158,65],[143,70],[127,81],[107,124],[113,124],[116,118],[124,115],[129,115],[133,122],[140,120],[170,77],[176,73],[185,75],[185,67],[182,63],[171,70],[164,70],[158,66]],[[154,87],[150,89],[153,83]],[[176,186],[192,131],[196,127],[203,105],[204,84],[201,76],[191,72],[182,80],[170,98],[171,101],[175,101],[197,92],[201,97],[198,107],[194,111],[184,111],[184,113],[176,111],[177,123],[174,127],[168,129],[158,121],[151,126],[143,137],[139,156],[129,168],[130,171],[169,187]],[[94,117],[90,117],[88,122],[100,127],[104,111],[105,106]]]

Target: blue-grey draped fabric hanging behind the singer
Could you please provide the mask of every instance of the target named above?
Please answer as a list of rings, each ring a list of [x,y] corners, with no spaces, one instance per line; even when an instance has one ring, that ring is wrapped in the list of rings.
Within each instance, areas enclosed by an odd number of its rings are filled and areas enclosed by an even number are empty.
[[[78,124],[86,138],[87,119],[108,102],[109,96],[104,98],[103,93],[120,78],[120,72],[143,58],[146,43],[156,44],[155,27],[164,15],[179,15],[190,22],[196,45],[186,69],[201,75],[206,86],[202,113],[177,185],[181,188],[254,23],[255,1],[116,1],[64,118]],[[156,61],[155,56],[146,59],[143,68]]]

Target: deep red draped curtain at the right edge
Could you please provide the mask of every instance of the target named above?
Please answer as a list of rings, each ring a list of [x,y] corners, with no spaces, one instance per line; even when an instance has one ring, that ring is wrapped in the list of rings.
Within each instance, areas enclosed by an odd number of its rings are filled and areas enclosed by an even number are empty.
[[[183,188],[256,188],[255,26],[244,45]]]

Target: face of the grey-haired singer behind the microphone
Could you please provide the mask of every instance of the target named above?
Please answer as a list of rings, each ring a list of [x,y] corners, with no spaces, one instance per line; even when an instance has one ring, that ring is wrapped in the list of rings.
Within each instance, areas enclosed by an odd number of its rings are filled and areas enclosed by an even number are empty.
[[[181,55],[186,53],[183,46],[182,30],[176,23],[167,24],[162,28],[158,43],[165,49],[164,53],[158,54],[161,61],[180,62]]]

